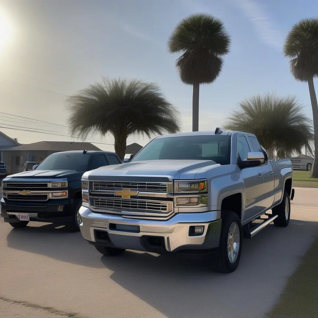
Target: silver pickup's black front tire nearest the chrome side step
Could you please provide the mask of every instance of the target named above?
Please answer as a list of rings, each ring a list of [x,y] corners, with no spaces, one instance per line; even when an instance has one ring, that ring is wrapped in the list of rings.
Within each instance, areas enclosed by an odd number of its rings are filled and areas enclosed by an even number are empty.
[[[234,272],[238,265],[239,260],[241,257],[242,252],[242,243],[243,243],[243,229],[241,226],[241,220],[239,216],[232,212],[232,211],[222,211],[221,212],[221,218],[222,218],[222,228],[221,228],[221,235],[220,235],[220,243],[219,247],[216,253],[212,254],[211,259],[211,266],[212,268],[219,272],[219,273],[232,273]],[[235,254],[235,259],[230,260],[229,251],[228,251],[228,239],[229,239],[229,232],[232,226],[237,226],[236,232],[236,241],[239,238],[239,246],[237,252]],[[231,240],[231,244],[234,241]],[[234,238],[235,240],[235,238]],[[232,253],[233,255],[233,253]]]

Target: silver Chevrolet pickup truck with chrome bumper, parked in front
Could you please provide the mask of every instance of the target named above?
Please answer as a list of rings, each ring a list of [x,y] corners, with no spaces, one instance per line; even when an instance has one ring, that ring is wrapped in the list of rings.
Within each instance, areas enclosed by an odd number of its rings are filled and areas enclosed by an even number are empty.
[[[80,230],[104,255],[194,255],[230,273],[244,237],[288,225],[292,177],[291,161],[268,161],[252,134],[160,136],[130,162],[82,176]]]

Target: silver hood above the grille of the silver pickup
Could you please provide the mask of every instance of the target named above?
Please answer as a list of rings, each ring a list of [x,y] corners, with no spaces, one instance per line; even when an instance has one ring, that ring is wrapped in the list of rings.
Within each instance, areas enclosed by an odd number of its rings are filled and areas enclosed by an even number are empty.
[[[197,172],[204,167],[218,167],[211,160],[147,160],[136,161],[88,171],[83,176],[101,180],[103,176],[158,176],[169,179],[195,179]],[[116,178],[117,179],[117,178]]]

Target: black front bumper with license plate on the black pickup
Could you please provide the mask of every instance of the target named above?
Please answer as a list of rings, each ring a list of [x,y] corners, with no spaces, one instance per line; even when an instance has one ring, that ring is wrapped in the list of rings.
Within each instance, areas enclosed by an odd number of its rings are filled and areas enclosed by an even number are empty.
[[[73,199],[54,200],[42,204],[13,203],[1,199],[4,222],[20,222],[19,213],[29,213],[30,221],[68,224],[72,223],[77,202]],[[62,211],[60,211],[62,210]]]

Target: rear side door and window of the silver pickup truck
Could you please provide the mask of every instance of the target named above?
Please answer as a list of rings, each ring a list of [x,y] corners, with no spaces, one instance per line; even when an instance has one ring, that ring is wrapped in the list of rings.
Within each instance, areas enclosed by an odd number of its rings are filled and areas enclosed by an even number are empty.
[[[250,148],[255,152],[262,152],[262,148],[258,140],[254,136],[247,137]],[[270,161],[265,162],[260,166],[264,177],[264,193],[262,195],[262,205],[266,209],[270,208],[274,202],[274,170]]]

